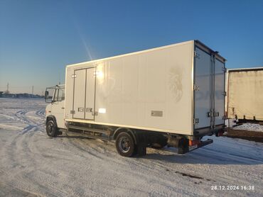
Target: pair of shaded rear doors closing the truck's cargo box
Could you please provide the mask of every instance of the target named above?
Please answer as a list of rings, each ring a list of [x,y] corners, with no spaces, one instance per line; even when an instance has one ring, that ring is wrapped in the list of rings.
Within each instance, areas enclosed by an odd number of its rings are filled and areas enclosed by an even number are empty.
[[[215,128],[224,124],[225,63],[195,47],[194,128]],[[207,131],[209,131],[208,129]]]

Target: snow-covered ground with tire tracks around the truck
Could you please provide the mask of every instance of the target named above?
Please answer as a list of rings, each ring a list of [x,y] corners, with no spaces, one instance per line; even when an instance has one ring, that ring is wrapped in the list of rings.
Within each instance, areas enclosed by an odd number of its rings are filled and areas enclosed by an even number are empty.
[[[112,142],[48,137],[44,112],[42,100],[0,99],[0,196],[263,196],[262,143],[210,137],[188,154],[125,158]]]

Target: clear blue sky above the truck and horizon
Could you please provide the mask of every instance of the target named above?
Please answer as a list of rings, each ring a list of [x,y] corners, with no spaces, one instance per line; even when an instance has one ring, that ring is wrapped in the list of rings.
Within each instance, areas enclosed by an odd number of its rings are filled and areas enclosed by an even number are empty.
[[[229,68],[263,66],[263,1],[0,0],[0,91],[42,94],[67,64],[195,39]]]

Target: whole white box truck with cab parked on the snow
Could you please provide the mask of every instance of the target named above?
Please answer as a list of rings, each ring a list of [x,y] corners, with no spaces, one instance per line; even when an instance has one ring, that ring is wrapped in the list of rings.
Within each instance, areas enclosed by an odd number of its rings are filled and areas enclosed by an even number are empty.
[[[125,157],[146,147],[208,145],[225,130],[225,58],[191,40],[66,67],[54,86],[46,130],[115,140]]]

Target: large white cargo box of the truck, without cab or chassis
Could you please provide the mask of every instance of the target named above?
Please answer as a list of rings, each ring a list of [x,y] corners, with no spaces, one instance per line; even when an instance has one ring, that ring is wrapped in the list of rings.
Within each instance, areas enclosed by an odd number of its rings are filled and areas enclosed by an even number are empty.
[[[225,59],[198,40],[66,67],[66,122],[205,135],[224,106]]]

